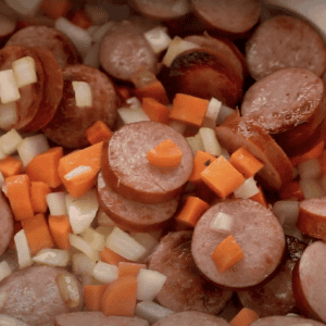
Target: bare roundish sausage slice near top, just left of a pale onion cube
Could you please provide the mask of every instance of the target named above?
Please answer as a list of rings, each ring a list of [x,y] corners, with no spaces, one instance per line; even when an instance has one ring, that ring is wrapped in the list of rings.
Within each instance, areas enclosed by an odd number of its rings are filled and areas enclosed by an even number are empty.
[[[131,82],[139,68],[156,73],[158,60],[143,35],[127,21],[115,24],[102,38],[100,61],[111,76]]]

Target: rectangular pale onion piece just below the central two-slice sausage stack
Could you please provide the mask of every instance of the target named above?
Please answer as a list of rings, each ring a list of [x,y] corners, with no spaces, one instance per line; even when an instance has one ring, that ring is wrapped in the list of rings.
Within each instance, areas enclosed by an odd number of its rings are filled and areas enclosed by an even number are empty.
[[[105,247],[131,262],[137,262],[146,253],[143,246],[118,227],[109,235]]]

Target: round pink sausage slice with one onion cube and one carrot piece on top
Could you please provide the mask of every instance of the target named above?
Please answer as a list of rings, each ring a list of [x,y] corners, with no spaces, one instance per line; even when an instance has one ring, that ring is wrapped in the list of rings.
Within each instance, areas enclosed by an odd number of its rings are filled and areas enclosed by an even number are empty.
[[[220,212],[231,217],[229,233],[211,229]],[[241,247],[243,259],[220,272],[211,254],[228,235]],[[197,267],[214,284],[246,289],[260,285],[278,267],[285,235],[277,217],[262,204],[250,199],[230,200],[213,205],[201,216],[193,230],[191,251]]]

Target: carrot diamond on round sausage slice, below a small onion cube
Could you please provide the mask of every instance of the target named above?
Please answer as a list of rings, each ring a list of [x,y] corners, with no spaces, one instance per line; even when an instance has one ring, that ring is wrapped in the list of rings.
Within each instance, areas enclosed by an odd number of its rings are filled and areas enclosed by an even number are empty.
[[[225,272],[243,259],[243,252],[235,238],[228,236],[215,248],[212,259],[220,272]]]

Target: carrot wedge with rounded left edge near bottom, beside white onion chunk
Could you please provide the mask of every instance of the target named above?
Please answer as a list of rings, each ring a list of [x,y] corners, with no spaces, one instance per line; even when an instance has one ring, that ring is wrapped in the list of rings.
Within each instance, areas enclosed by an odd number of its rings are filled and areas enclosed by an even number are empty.
[[[121,277],[111,283],[102,296],[101,311],[105,316],[133,316],[136,308],[137,277]]]

